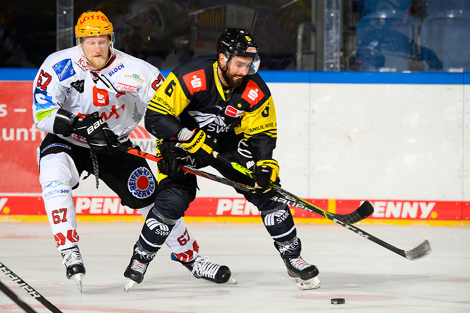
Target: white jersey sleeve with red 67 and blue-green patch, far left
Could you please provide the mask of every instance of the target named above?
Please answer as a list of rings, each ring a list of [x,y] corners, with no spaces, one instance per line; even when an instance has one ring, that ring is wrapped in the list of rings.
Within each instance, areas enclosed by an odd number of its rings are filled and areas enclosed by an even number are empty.
[[[67,97],[67,88],[61,86],[51,62],[46,59],[33,82],[33,119],[39,130],[53,133],[57,109]]]

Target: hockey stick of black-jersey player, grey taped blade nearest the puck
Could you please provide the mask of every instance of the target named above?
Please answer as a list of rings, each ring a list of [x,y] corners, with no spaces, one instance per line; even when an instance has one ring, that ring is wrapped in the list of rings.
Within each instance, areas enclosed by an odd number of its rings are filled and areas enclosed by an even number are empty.
[[[232,166],[238,172],[240,172],[242,174],[245,174],[246,176],[248,176],[252,179],[256,178],[252,171],[250,171],[249,169],[243,167],[242,165],[240,165],[236,162],[230,161],[229,159],[225,158],[224,156],[221,156],[216,151],[212,151],[211,154],[212,154],[213,157],[215,157],[216,159],[218,159],[222,163],[225,163],[229,166]],[[284,197],[294,197],[294,198],[297,198],[299,200],[302,200],[302,199],[298,198],[297,196],[289,193],[288,191],[285,191],[284,189],[282,189],[281,187],[277,186],[274,183],[271,183],[270,187],[273,188],[275,191],[277,190],[278,193],[282,194]],[[366,203],[366,202],[370,203],[369,201],[365,201],[364,203]],[[371,204],[371,206],[372,206],[372,204]],[[402,249],[397,248],[396,246],[392,246],[389,243],[384,242],[383,240],[369,234],[368,232],[366,232],[366,231],[364,231],[364,230],[362,230],[362,229],[360,229],[360,228],[358,228],[354,225],[351,225],[350,223],[346,223],[344,221],[341,221],[340,219],[332,216],[331,214],[327,214],[327,215],[325,215],[325,217],[327,219],[333,221],[334,223],[340,224],[341,226],[343,226],[343,227],[345,227],[349,230],[352,230],[356,234],[358,234],[358,235],[360,235],[360,236],[362,236],[366,239],[369,239],[370,241],[375,242],[376,244],[378,244],[380,246],[383,246],[384,248],[389,249],[392,252],[395,252],[395,253],[401,255],[402,257],[404,257],[408,260],[411,260],[411,261],[418,260],[418,259],[421,259],[421,258],[425,257],[429,253],[431,253],[431,246],[429,245],[429,242],[427,241],[427,239],[425,239],[421,244],[419,244],[418,246],[415,246],[414,248],[412,248],[410,250],[402,250]]]

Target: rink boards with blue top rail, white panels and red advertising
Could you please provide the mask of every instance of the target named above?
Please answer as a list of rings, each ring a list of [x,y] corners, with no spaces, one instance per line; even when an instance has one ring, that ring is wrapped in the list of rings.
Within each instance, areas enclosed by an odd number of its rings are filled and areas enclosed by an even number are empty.
[[[1,219],[45,214],[36,160],[44,133],[33,125],[31,112],[35,73],[0,69]],[[276,103],[275,158],[283,188],[340,214],[369,200],[375,207],[370,221],[467,224],[468,73],[269,71],[261,76]],[[130,137],[154,152],[154,139],[143,125]],[[201,191],[188,217],[258,221],[257,209],[231,188],[204,179],[198,183]],[[79,219],[138,216],[104,184],[96,191],[93,178],[80,182],[74,201]],[[296,218],[318,218],[291,209]]]

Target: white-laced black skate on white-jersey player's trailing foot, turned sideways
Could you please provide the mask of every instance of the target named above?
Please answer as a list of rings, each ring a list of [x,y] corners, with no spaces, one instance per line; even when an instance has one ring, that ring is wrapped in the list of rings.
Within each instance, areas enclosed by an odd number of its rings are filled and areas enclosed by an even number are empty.
[[[171,260],[177,261],[188,268],[196,278],[202,278],[216,284],[236,284],[236,280],[232,278],[230,268],[225,265],[218,265],[209,262],[209,257],[198,256],[195,260],[190,262],[182,262],[174,253],[171,253]]]

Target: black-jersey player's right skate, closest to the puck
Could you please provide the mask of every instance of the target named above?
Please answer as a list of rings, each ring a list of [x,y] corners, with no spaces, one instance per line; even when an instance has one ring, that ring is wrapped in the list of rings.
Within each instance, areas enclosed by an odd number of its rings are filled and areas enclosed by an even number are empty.
[[[320,288],[318,279],[318,268],[313,264],[305,262],[300,256],[302,244],[299,238],[287,243],[274,242],[274,246],[281,252],[287,273],[295,278],[297,287],[301,290]]]

